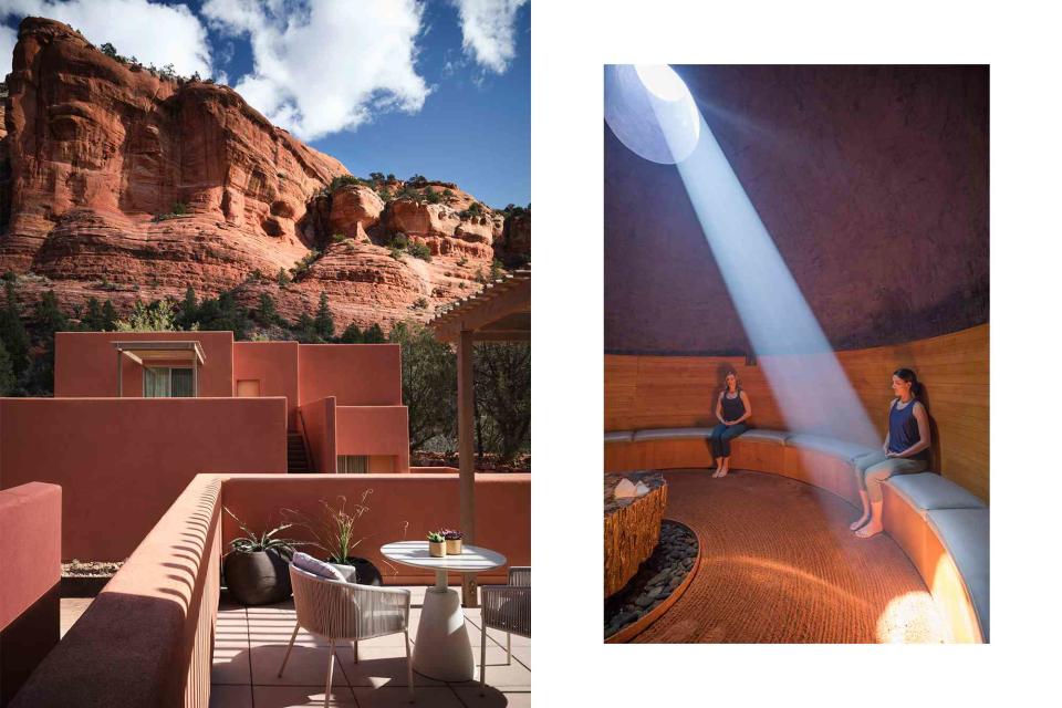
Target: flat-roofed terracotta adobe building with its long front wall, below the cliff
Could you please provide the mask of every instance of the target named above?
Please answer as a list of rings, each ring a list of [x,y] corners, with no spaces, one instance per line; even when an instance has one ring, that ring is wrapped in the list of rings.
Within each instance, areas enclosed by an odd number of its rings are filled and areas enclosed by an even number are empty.
[[[54,392],[0,399],[0,488],[63,488],[64,559],[125,558],[199,473],[410,471],[397,344],[59,332]]]

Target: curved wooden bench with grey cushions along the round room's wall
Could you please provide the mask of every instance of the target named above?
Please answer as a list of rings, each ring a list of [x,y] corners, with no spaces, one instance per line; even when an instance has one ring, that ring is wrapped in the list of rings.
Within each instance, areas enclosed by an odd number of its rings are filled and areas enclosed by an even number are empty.
[[[711,467],[711,428],[605,434],[605,471]],[[861,508],[855,464],[876,450],[835,438],[754,428],[731,441],[731,466],[783,475]],[[918,570],[955,642],[989,641],[989,510],[935,472],[883,485],[883,523]]]

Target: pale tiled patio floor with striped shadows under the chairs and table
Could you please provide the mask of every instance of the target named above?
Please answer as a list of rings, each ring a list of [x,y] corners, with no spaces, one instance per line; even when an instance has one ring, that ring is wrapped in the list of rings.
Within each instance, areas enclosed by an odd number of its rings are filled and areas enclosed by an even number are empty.
[[[410,644],[425,587],[410,586]],[[531,705],[531,641],[512,637],[512,664],[506,666],[506,635],[488,629],[487,688],[479,690],[479,610],[466,610],[476,657],[476,681],[444,683],[414,673],[416,706],[501,707]],[[214,648],[210,705],[226,708],[323,706],[327,644],[300,632],[282,678],[277,671],[295,626],[292,601],[243,607],[222,598]],[[332,705],[408,706],[406,654],[400,634],[358,644],[358,663],[350,643],[336,649]]]

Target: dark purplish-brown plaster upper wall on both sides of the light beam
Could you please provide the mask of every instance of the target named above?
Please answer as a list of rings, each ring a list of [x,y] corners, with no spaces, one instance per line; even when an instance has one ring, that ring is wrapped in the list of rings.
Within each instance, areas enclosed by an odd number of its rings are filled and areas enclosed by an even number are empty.
[[[675,69],[834,348],[988,322],[987,66]],[[750,353],[678,170],[604,131],[605,351]]]

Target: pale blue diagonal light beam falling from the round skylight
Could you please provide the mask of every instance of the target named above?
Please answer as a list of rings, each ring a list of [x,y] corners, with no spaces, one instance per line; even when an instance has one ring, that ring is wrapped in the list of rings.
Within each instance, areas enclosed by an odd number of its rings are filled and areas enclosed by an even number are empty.
[[[669,107],[680,102],[643,103],[669,153],[686,153],[676,166],[787,427],[877,448],[866,410],[696,104],[697,140],[689,150],[691,129]]]

